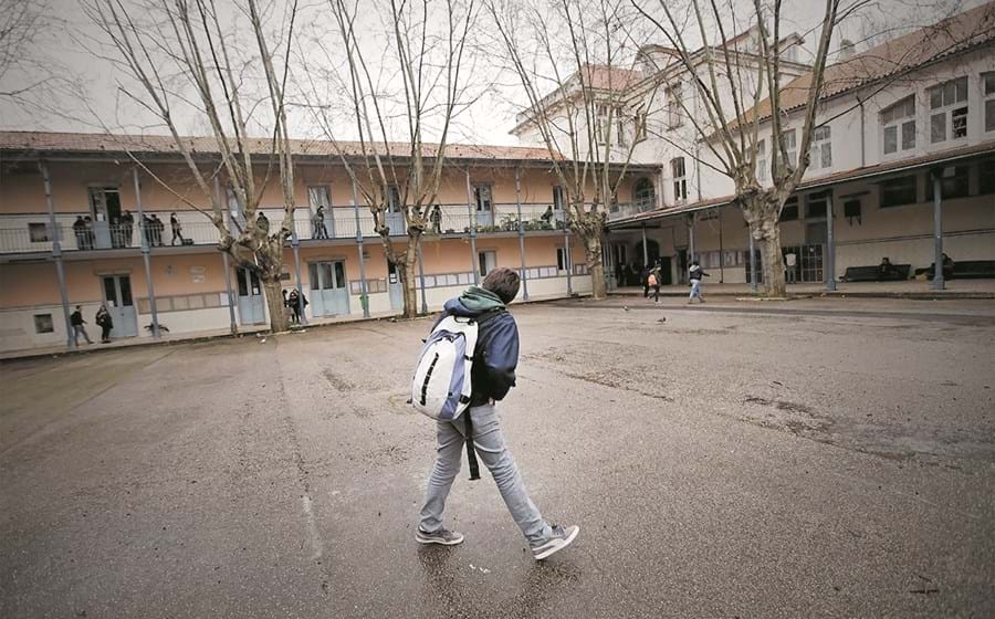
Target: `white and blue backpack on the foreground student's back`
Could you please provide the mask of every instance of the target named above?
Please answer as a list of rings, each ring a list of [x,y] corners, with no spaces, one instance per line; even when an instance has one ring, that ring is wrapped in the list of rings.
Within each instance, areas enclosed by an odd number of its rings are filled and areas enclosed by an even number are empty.
[[[475,318],[446,316],[436,325],[421,347],[411,380],[415,410],[443,421],[457,419],[467,410],[478,327],[501,312]]]

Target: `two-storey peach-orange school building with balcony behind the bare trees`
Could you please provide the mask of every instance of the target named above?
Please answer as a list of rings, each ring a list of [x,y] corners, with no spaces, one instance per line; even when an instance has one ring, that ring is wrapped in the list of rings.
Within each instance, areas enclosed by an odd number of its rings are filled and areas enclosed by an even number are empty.
[[[191,144],[205,169],[217,167],[213,139]],[[264,153],[262,140],[259,148]],[[284,287],[294,288],[300,273],[311,323],[399,312],[401,286],[373,216],[353,200],[338,155],[324,141],[293,148],[297,207]],[[619,199],[630,200],[633,182],[658,174],[654,166],[630,166]],[[217,190],[227,191],[223,178]],[[260,282],[218,250],[214,225],[177,195],[210,210],[168,137],[0,133],[0,350],[65,345],[66,315],[76,305],[91,338],[101,304],[114,319],[114,338],[151,337],[153,302],[170,334],[268,324]],[[230,195],[227,201],[226,220],[234,224],[240,207]],[[590,291],[546,149],[449,146],[437,202],[442,218],[423,238],[416,282],[421,308],[440,308],[499,265],[520,271],[522,300]],[[279,182],[270,182],[262,204],[280,225]],[[323,229],[314,220],[318,207]],[[404,213],[397,204],[390,210],[391,238],[404,243]],[[174,238],[174,216],[180,238]],[[142,227],[144,218],[161,223]]]

